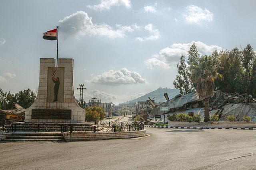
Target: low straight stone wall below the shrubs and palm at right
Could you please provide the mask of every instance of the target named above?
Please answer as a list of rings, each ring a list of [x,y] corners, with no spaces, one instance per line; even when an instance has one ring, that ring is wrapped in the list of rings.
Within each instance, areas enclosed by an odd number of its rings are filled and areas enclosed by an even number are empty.
[[[256,127],[256,122],[229,122],[217,121],[207,123],[196,123],[186,121],[169,121],[168,126],[174,127]]]

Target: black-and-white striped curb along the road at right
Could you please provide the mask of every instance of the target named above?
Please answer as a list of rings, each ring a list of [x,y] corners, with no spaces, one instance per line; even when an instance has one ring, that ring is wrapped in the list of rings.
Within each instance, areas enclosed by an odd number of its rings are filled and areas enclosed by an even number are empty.
[[[256,130],[256,127],[178,127],[178,126],[144,126],[155,128],[174,128],[174,129],[238,129],[238,130]]]

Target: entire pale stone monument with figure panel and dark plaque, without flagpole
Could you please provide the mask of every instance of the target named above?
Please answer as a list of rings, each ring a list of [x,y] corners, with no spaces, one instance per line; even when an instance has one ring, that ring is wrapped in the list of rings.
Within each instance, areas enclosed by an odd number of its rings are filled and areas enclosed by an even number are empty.
[[[38,94],[25,111],[25,122],[84,123],[85,110],[74,97],[73,59],[40,59]]]

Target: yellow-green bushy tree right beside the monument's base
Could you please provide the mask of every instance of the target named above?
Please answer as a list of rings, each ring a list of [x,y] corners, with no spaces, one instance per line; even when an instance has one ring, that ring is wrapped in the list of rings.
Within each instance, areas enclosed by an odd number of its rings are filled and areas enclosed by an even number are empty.
[[[88,122],[95,122],[95,121],[102,120],[105,116],[105,113],[102,107],[99,107],[99,106],[86,107],[85,114],[86,114],[85,119]]]

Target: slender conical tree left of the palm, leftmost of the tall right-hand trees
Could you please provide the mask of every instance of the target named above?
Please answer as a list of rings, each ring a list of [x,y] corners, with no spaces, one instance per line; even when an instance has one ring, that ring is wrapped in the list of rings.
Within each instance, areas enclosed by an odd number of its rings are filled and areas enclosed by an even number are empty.
[[[180,57],[180,63],[177,64],[178,74],[173,81],[174,87],[180,89],[180,94],[188,94],[192,92],[190,85],[189,73],[185,62],[185,56]]]

